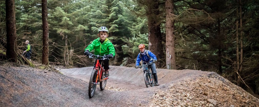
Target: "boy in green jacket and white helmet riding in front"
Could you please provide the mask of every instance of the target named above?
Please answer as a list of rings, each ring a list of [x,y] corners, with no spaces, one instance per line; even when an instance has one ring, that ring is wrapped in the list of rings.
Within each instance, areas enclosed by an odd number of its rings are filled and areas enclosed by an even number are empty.
[[[108,37],[108,29],[106,27],[100,27],[98,29],[98,37],[93,40],[91,44],[89,44],[84,50],[84,54],[89,56],[91,50],[95,50],[95,55],[106,55],[107,58],[103,60],[103,67],[105,69],[104,76],[109,76],[109,59],[115,56],[115,49],[113,47],[112,42],[107,38]]]

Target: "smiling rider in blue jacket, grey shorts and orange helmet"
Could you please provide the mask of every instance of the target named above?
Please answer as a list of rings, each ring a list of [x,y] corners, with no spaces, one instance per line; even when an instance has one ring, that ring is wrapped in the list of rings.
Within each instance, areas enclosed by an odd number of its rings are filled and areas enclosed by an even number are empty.
[[[152,60],[150,60],[150,58],[153,58],[153,64],[152,65],[149,65],[151,71],[152,71],[152,74],[154,75],[154,79],[155,79],[155,82],[156,82],[156,86],[158,86],[158,81],[157,81],[157,75],[156,75],[156,56],[155,54],[153,54],[152,52],[148,51],[148,50],[145,50],[145,45],[144,44],[140,44],[139,45],[139,50],[140,50],[140,53],[137,57],[137,60],[136,60],[136,65],[135,65],[135,68],[138,68],[139,67],[139,63],[140,61],[142,60],[143,61],[143,64],[147,64],[148,62],[151,63]],[[145,70],[146,68],[143,67],[143,70]]]

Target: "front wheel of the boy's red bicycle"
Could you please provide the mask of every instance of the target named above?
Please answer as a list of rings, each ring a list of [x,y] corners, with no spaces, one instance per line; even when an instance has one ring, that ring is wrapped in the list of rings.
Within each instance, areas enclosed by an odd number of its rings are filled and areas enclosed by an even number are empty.
[[[96,77],[97,77],[97,70],[93,69],[91,77],[90,77],[90,81],[89,81],[89,87],[88,87],[88,96],[89,98],[93,97],[93,94],[95,94],[95,88],[97,83],[96,82]]]

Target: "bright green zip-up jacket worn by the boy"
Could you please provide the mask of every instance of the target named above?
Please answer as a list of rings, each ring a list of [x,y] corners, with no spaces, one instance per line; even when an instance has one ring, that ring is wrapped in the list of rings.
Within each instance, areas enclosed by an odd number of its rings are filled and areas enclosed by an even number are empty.
[[[103,43],[100,42],[100,38],[93,40],[92,43],[84,49],[84,51],[91,51],[93,49],[95,50],[95,55],[103,56],[112,54],[113,57],[115,56],[115,49],[108,38],[106,38]]]

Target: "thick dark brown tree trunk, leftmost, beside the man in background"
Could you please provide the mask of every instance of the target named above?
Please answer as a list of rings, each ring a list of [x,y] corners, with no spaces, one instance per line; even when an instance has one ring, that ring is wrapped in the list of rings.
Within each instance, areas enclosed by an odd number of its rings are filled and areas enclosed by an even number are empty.
[[[17,62],[15,1],[6,0],[6,56],[10,62]]]

